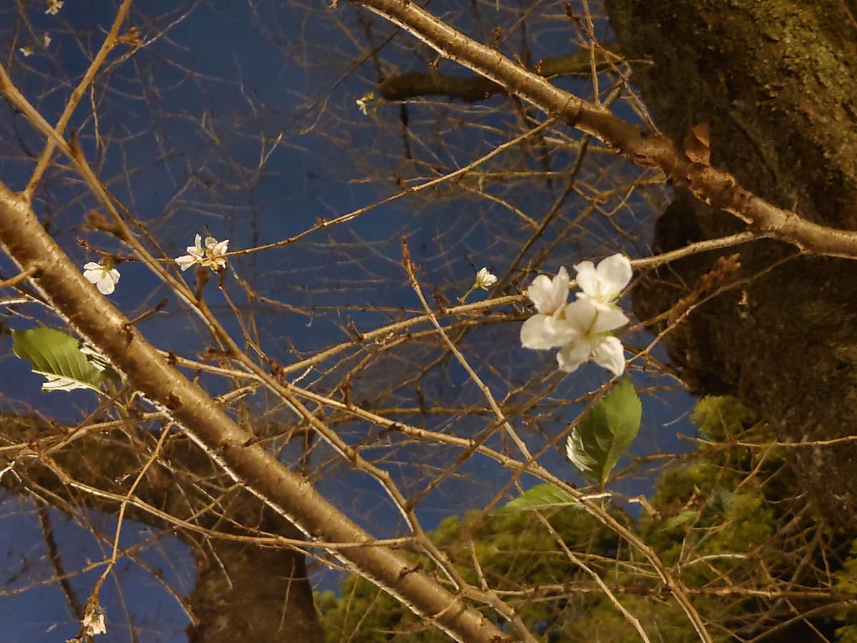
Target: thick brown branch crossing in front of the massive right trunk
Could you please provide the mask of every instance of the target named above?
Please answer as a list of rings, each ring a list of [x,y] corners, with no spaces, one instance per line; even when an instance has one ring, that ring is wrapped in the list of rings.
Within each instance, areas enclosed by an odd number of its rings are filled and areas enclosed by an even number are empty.
[[[595,136],[637,165],[658,167],[700,201],[743,220],[758,237],[791,243],[818,255],[857,259],[857,232],[834,230],[775,207],[740,186],[728,172],[693,163],[662,135],[626,123],[602,105],[593,105],[554,87],[500,51],[481,45],[409,0],[353,0],[399,25],[426,45],[528,100],[551,117]]]

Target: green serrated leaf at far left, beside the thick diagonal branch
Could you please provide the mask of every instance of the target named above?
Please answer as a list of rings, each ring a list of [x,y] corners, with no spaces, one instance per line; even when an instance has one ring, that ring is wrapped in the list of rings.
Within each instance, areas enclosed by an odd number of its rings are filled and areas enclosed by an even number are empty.
[[[79,340],[53,328],[41,326],[29,330],[13,330],[12,350],[30,363],[33,373],[45,376],[43,391],[70,391],[75,388],[92,388],[102,392],[105,380],[118,379],[112,370],[93,366],[93,358],[81,352]]]

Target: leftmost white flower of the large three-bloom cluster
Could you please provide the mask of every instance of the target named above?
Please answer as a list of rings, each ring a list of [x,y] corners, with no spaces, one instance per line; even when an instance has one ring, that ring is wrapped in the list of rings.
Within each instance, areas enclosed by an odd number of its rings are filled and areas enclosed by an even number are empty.
[[[546,350],[562,346],[572,339],[573,332],[565,323],[563,310],[570,281],[565,267],[561,267],[553,279],[544,274],[533,279],[527,288],[527,297],[536,304],[538,313],[521,327],[521,345],[524,348]]]

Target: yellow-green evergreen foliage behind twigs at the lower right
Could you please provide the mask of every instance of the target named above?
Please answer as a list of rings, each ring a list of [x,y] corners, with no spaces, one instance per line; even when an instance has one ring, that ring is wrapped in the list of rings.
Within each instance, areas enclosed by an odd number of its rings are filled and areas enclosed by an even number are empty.
[[[666,469],[639,520],[619,503],[610,511],[633,526],[680,576],[716,640],[825,640],[836,625],[830,592],[857,593],[854,557],[846,535],[832,532],[799,489],[785,448],[737,400],[706,398],[693,414],[698,448]],[[562,540],[539,519],[546,520]],[[654,570],[595,518],[572,504],[495,514],[451,516],[433,534],[464,579],[484,580],[512,601],[545,641],[639,640],[631,623],[578,562],[596,572],[635,616],[651,640],[683,643],[696,634]],[[578,562],[566,556],[563,545]],[[415,556],[415,562],[416,562]],[[427,562],[423,562],[428,568]],[[838,571],[837,571],[838,570]],[[813,593],[815,592],[815,593]],[[351,576],[341,597],[318,597],[327,641],[446,640],[393,598]],[[818,618],[794,618],[815,610]],[[840,610],[854,619],[857,610]],[[842,627],[842,640],[857,640]],[[850,637],[850,638],[848,638]]]

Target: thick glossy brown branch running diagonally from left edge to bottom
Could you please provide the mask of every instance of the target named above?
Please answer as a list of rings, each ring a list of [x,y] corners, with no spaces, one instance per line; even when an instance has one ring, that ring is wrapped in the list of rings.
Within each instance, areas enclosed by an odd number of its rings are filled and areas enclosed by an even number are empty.
[[[141,333],[84,279],[19,195],[0,184],[0,243],[33,284],[87,340],[122,370],[130,386],[181,424],[209,457],[309,538],[365,543],[333,552],[357,573],[393,594],[456,640],[506,637],[487,618],[402,556],[373,538],[321,496],[306,478],[255,443],[199,386],[175,370]]]

